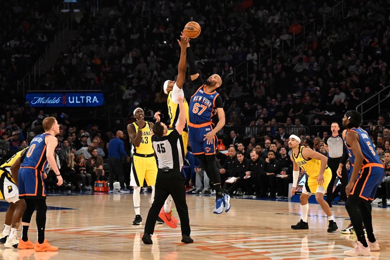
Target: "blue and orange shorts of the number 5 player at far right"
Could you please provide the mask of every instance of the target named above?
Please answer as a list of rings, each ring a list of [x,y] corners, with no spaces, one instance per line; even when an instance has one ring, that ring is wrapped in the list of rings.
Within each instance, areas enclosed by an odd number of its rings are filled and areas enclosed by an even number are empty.
[[[352,187],[350,197],[372,201],[384,177],[385,170],[382,164],[368,163],[364,165]]]

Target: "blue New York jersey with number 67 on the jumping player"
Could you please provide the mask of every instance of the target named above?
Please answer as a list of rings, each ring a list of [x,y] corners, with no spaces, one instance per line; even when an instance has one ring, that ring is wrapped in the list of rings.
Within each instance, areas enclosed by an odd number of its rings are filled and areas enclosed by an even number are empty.
[[[205,90],[206,85],[198,88],[195,94],[191,97],[189,110],[190,124],[204,124],[211,122],[215,108],[215,99],[218,97],[216,91],[208,93]]]

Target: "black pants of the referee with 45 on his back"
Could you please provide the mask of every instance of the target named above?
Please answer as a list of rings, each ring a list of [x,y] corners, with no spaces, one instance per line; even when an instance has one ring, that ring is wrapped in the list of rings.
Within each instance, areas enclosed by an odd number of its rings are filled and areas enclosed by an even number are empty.
[[[191,228],[186,203],[186,188],[180,171],[175,169],[169,170],[168,172],[163,172],[161,169],[158,169],[155,200],[149,209],[144,232],[153,235],[158,213],[170,194],[175,202],[177,214],[180,218],[181,234],[182,236],[190,236]]]

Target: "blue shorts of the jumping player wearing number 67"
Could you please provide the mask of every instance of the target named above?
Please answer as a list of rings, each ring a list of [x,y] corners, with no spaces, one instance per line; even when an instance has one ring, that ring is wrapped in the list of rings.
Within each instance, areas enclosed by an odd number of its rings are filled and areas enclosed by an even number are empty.
[[[204,139],[204,135],[213,130],[212,125],[202,127],[188,126],[188,139],[190,140],[192,153],[212,155],[215,154],[216,142],[218,141],[216,136],[213,143],[207,144],[207,140]]]

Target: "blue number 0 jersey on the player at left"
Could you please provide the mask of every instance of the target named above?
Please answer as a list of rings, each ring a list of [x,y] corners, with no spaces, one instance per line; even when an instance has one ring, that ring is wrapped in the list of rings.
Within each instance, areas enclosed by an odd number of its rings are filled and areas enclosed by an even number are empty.
[[[44,172],[47,166],[45,138],[50,134],[41,134],[31,140],[26,156],[20,167],[32,167]]]

